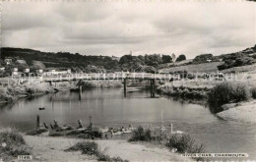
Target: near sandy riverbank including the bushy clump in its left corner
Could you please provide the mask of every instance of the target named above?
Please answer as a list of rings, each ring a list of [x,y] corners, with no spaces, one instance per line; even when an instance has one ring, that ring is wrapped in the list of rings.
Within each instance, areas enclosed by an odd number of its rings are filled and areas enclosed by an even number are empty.
[[[167,147],[149,142],[128,142],[124,139],[81,139],[64,136],[24,135],[0,129],[0,159],[19,161],[18,155],[32,155],[36,161],[97,161],[96,155],[66,151],[78,142],[95,141],[106,157],[128,161],[191,161]],[[120,161],[120,160],[117,160]]]

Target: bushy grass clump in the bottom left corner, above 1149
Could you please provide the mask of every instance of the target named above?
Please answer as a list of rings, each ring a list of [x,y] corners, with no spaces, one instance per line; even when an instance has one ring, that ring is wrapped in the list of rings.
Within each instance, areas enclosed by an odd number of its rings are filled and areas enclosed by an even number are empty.
[[[32,153],[23,136],[14,129],[0,129],[0,144],[0,157],[4,160]]]

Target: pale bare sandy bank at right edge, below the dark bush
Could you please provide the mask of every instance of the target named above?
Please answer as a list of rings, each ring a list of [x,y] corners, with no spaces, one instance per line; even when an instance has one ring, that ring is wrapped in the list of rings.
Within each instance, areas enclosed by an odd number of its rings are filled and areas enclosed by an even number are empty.
[[[223,105],[224,111],[217,114],[224,120],[256,124],[256,99]]]

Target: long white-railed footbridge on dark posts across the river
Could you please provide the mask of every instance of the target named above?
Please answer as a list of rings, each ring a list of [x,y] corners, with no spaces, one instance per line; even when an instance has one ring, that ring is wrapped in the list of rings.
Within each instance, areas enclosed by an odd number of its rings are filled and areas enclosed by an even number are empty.
[[[151,97],[155,97],[156,81],[179,80],[178,75],[162,75],[149,73],[114,73],[114,74],[67,74],[40,77],[12,77],[20,83],[25,81],[33,82],[56,82],[56,81],[99,81],[99,80],[120,80],[123,83],[124,95],[126,95],[127,80],[148,80],[151,82]],[[79,86],[80,88],[80,86]]]

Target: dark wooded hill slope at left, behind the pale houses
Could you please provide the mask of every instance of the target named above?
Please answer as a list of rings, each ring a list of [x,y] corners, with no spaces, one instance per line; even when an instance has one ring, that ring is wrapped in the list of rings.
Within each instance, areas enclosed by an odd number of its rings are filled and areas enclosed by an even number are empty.
[[[109,56],[85,56],[78,53],[72,54],[69,52],[41,52],[32,49],[23,48],[1,48],[1,59],[6,58],[24,59],[29,66],[32,66],[32,61],[40,61],[46,68],[79,68],[84,69],[91,66],[101,66],[106,70],[116,69],[118,61]]]

